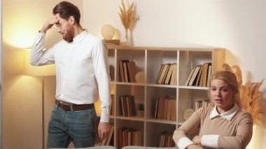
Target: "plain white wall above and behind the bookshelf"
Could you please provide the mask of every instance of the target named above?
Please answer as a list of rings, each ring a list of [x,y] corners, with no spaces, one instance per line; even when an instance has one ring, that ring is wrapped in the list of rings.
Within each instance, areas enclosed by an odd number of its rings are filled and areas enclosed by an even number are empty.
[[[243,79],[266,78],[266,1],[264,0],[135,0],[139,20],[134,45],[178,46],[180,43],[228,49],[228,64],[239,64]],[[123,34],[120,0],[84,0],[84,27],[101,36],[103,24]],[[122,35],[123,37],[123,35]],[[262,84],[266,98],[266,82]],[[266,142],[266,133],[264,142]],[[257,143],[258,144],[258,143]],[[262,145],[262,143],[261,143]],[[265,146],[265,145],[264,145]],[[266,146],[264,147],[266,148]]]

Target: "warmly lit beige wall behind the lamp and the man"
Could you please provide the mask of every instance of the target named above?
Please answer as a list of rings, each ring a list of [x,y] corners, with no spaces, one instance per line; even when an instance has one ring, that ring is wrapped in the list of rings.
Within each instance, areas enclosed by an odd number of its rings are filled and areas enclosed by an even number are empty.
[[[3,117],[2,148],[41,148],[41,77],[23,74],[23,49],[29,48],[36,33],[52,17],[59,0],[3,0]],[[83,13],[83,1],[72,0]],[[81,20],[82,22],[82,20]],[[45,48],[61,36],[48,32]],[[45,140],[55,100],[55,76],[45,77]]]

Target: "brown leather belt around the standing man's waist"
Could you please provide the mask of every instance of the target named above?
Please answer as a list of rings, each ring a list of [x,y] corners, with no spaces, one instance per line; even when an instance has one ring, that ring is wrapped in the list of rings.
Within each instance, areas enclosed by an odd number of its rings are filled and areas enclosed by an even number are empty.
[[[66,104],[58,100],[55,100],[55,104],[64,111],[84,111],[94,107],[94,104]]]

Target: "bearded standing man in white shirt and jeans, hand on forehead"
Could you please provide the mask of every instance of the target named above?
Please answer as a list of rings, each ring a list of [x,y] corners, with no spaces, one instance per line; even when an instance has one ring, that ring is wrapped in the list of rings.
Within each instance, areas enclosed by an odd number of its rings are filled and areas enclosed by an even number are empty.
[[[102,115],[99,139],[109,134],[111,102],[109,64],[106,46],[80,26],[78,7],[67,1],[58,3],[53,17],[43,25],[31,50],[31,64],[56,64],[56,101],[48,126],[47,148],[94,146],[98,90]],[[52,26],[64,40],[43,51],[45,33]]]

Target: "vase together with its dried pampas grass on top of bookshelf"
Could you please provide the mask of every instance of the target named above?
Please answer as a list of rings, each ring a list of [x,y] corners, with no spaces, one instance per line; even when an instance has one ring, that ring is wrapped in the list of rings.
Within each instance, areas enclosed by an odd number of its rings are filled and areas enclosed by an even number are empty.
[[[125,39],[123,41],[123,45],[130,45],[128,31],[130,30],[130,27],[134,21],[134,15],[135,15],[135,5],[134,2],[127,3],[127,8],[125,7],[124,0],[121,0],[122,6],[120,6],[120,20],[125,28]]]

